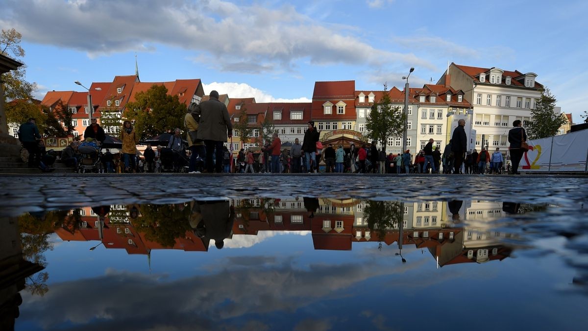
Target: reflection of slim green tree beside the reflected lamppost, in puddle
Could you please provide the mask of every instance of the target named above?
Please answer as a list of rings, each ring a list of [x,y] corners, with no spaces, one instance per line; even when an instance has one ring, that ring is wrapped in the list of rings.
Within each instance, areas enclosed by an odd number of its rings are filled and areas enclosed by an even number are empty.
[[[378,240],[384,240],[387,229],[393,229],[402,221],[401,204],[397,201],[373,201],[365,202],[363,219],[368,222],[370,230],[375,231]]]

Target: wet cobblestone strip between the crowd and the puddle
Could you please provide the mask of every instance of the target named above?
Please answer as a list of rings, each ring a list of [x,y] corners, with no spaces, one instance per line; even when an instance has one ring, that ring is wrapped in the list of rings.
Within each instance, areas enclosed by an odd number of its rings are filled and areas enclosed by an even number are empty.
[[[27,211],[193,198],[296,196],[493,200],[583,206],[588,177],[454,175],[52,174],[0,176],[0,216]],[[580,207],[582,208],[582,207]]]

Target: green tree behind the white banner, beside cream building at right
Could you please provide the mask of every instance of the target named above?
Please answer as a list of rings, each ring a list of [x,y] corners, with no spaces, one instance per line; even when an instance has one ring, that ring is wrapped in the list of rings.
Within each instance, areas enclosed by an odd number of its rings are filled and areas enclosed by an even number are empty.
[[[557,130],[566,124],[566,118],[562,114],[553,112],[556,98],[545,88],[541,98],[536,102],[535,109],[531,110],[531,118],[527,124],[527,136],[529,139],[541,139],[552,137],[557,134]]]

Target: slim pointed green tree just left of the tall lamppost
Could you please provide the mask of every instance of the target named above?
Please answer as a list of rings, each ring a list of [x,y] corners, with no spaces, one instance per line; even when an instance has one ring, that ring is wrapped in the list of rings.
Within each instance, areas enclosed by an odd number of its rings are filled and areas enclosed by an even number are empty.
[[[400,110],[400,107],[392,107],[388,85],[384,83],[382,98],[374,102],[372,111],[366,118],[368,138],[378,141],[386,151],[389,138],[402,136],[405,130],[405,120],[406,114]]]

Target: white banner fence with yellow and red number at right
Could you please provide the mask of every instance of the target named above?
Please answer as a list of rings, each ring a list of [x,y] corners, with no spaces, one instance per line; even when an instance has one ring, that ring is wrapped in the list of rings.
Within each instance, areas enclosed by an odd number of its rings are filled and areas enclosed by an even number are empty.
[[[520,171],[583,172],[588,158],[588,130],[529,140],[529,151],[520,161]],[[553,144],[553,147],[552,147]],[[551,167],[549,167],[551,160]]]

